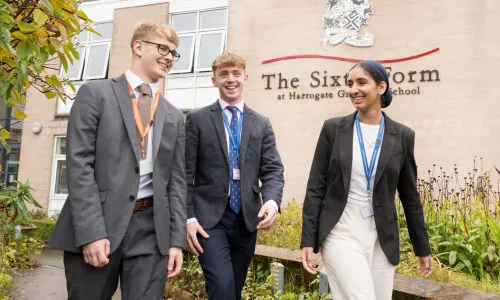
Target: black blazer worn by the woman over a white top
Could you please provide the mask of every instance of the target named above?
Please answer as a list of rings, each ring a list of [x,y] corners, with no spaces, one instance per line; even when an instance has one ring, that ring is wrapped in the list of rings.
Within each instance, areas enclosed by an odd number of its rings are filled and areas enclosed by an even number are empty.
[[[339,221],[347,203],[352,167],[352,139],[356,113],[326,120],[314,153],[303,207],[300,247],[319,251]],[[417,190],[413,153],[415,132],[385,117],[385,132],[373,188],[373,210],[380,246],[393,264],[399,263],[396,190],[403,204],[408,231],[417,256],[431,254]]]

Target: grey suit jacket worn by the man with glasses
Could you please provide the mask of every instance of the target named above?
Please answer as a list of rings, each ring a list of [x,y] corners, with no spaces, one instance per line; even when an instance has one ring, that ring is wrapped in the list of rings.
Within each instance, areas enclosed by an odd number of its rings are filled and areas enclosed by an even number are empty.
[[[139,139],[125,75],[80,87],[67,133],[69,196],[49,244],[69,252],[108,238],[121,243],[139,190]],[[185,128],[161,97],[153,127],[154,223],[163,255],[186,244]]]

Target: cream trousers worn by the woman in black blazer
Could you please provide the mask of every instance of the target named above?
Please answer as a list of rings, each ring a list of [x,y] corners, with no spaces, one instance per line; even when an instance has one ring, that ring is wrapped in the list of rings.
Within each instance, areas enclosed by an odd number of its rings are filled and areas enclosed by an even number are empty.
[[[375,218],[347,206],[321,247],[334,300],[390,300],[395,267],[380,248]]]

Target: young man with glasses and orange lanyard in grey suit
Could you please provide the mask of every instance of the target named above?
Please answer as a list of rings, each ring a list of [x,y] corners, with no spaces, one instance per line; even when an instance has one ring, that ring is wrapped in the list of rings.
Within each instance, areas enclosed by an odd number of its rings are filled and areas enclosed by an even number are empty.
[[[69,195],[49,244],[63,249],[68,299],[162,299],[186,243],[182,112],[159,92],[175,31],[144,23],[125,74],[82,85],[68,122]]]

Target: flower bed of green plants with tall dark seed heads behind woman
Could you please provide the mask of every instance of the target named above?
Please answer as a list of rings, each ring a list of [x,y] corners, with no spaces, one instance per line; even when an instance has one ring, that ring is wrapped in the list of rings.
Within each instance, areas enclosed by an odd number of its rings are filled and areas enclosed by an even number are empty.
[[[431,279],[500,294],[499,193],[492,190],[490,174],[474,168],[459,182],[458,170],[454,176],[440,170],[437,175],[429,171],[428,180],[418,181],[435,258]],[[401,264],[396,271],[419,277],[404,213],[396,203],[401,240]],[[301,220],[301,206],[291,202],[282,208],[272,231],[259,232],[257,243],[298,249]]]

